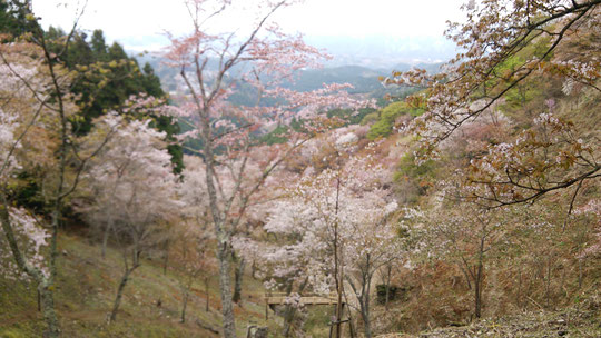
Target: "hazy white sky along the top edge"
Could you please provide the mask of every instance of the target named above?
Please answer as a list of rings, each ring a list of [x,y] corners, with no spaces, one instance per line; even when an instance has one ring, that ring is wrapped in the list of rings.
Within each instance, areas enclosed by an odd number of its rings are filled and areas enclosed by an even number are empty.
[[[244,0],[252,7],[253,1]],[[77,0],[33,0],[33,11],[45,27],[65,29],[72,24]],[[274,20],[287,31],[307,38],[341,37],[365,39],[382,36],[393,39],[441,38],[446,20],[461,20],[462,0],[306,0],[280,10]],[[244,22],[248,12],[233,11],[213,27],[230,28]],[[190,21],[179,0],[89,0],[80,27],[102,29],[109,41],[117,40],[129,50],[156,50],[167,43],[165,31],[188,31]]]

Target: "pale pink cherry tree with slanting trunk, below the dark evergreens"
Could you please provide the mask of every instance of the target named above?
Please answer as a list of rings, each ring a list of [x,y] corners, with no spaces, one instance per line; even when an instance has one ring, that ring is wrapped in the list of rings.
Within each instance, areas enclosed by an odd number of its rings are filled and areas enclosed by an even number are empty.
[[[110,314],[116,320],[122,291],[140,257],[157,246],[165,222],[178,215],[177,178],[161,141],[164,133],[149,127],[150,120],[124,121],[107,115],[96,122],[91,137],[114,132],[110,141],[89,163],[85,179],[92,199],[79,207],[91,223],[114,233],[124,258],[124,275]],[[125,125],[125,126],[124,126]],[[118,126],[122,126],[117,129]],[[116,131],[114,131],[117,129]]]

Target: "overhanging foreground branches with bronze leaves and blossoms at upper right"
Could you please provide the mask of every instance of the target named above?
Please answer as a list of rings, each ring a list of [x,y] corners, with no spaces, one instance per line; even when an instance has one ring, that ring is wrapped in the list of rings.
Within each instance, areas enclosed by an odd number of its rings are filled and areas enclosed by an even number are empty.
[[[443,72],[430,76],[412,70],[387,79],[428,89],[408,99],[426,110],[410,127],[421,136],[425,151],[420,153],[435,155],[437,145],[462,125],[497,109],[531,80],[559,79],[565,95],[577,83],[598,96],[599,59],[574,50],[600,48],[600,4],[598,0],[485,0],[464,4],[466,21],[450,24],[446,31],[461,52]],[[582,39],[582,34],[590,39]],[[477,172],[471,181],[482,190],[472,197],[497,207],[534,201],[571,187],[577,196],[582,181],[599,177],[595,138],[553,111],[553,98],[546,106],[528,122],[533,128],[526,128],[512,142],[491,146],[486,158],[472,163]],[[508,170],[500,169],[505,166]],[[496,169],[495,177],[484,178]],[[483,193],[485,189],[492,190]]]

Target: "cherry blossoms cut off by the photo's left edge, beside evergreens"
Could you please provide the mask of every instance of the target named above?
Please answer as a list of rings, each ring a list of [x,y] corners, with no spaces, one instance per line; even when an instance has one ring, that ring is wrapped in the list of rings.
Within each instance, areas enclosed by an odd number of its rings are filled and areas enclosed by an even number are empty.
[[[7,61],[10,58],[6,53],[2,56]],[[27,83],[32,87],[41,84],[38,67],[30,59],[0,66],[0,77],[3,79],[0,88],[0,261],[3,276],[11,279],[28,279],[31,275],[42,279],[48,276],[41,250],[48,246],[49,233],[24,209],[11,207],[7,198],[13,171],[20,168],[18,152],[22,147],[21,140],[43,109],[43,105],[36,105],[31,91],[26,87]],[[19,77],[27,81],[21,81]],[[12,252],[19,252],[17,258],[20,262],[14,262]],[[24,267],[24,270],[20,267]]]

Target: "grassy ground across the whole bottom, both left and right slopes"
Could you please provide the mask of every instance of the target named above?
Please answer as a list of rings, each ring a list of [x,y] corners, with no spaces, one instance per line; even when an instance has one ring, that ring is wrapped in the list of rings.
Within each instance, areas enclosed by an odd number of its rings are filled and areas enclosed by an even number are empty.
[[[178,282],[183,276],[167,269],[164,259],[147,259],[131,276],[131,285],[125,291],[125,300],[119,319],[107,324],[116,285],[121,274],[120,252],[110,248],[105,259],[100,247],[90,243],[78,231],[66,235],[59,243],[61,264],[60,287],[57,289],[58,311],[65,337],[219,337],[219,292],[215,276],[209,277],[209,310],[206,311],[204,275],[193,285],[193,297],[188,304],[187,319],[180,322],[183,292]],[[43,329],[43,318],[37,310],[36,291],[27,282],[0,279],[4,290],[0,297],[0,337],[39,337]],[[593,284],[587,291],[574,298],[574,304],[563,310],[534,310],[519,315],[487,318],[461,327],[423,330],[418,334],[387,334],[378,338],[456,338],[456,337],[599,337],[601,335],[601,304],[599,285]],[[237,307],[239,318],[238,335],[246,337],[248,326],[268,326],[278,331],[279,319],[269,310],[269,321],[265,321],[263,285],[245,276],[243,302]],[[494,300],[491,300],[494,301]],[[160,302],[160,306],[159,306]],[[391,309],[378,305],[374,315],[386,318],[407,318],[412,302],[394,300]],[[312,308],[304,324],[304,330],[313,337],[327,337],[327,317],[331,309]],[[418,318],[415,318],[418,319]],[[394,319],[393,319],[394,320]],[[406,320],[406,319],[405,319]],[[397,325],[403,326],[402,322]],[[403,328],[403,331],[407,327]],[[279,337],[277,334],[269,337]]]

